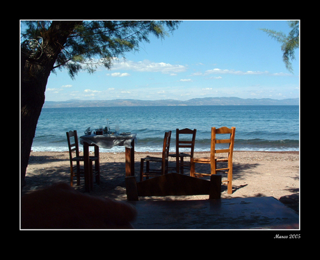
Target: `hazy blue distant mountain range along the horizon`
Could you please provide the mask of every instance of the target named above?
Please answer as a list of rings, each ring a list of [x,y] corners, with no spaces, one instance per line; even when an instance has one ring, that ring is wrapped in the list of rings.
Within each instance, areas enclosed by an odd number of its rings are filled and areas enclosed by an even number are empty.
[[[203,97],[179,101],[175,99],[139,100],[78,100],[45,101],[44,108],[102,107],[102,106],[298,106],[299,99],[241,99],[239,97]]]

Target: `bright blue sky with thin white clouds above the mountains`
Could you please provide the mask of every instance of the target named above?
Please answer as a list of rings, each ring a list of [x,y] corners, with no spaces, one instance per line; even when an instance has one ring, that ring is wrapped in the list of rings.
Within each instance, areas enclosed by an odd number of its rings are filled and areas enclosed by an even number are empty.
[[[183,21],[164,40],[150,36],[140,51],[114,59],[107,70],[51,73],[47,101],[299,97],[299,49],[294,74],[282,61],[280,43],[259,29],[288,33],[286,21]]]

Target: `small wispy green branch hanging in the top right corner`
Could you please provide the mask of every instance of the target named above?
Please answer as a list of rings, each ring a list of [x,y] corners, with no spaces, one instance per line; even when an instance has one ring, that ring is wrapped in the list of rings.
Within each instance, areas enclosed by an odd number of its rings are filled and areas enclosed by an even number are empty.
[[[288,22],[291,31],[288,35],[285,33],[273,31],[269,29],[260,29],[267,33],[271,38],[274,38],[278,42],[282,43],[281,50],[283,53],[282,60],[289,72],[293,72],[291,60],[296,59],[294,56],[294,50],[299,47],[299,21]]]

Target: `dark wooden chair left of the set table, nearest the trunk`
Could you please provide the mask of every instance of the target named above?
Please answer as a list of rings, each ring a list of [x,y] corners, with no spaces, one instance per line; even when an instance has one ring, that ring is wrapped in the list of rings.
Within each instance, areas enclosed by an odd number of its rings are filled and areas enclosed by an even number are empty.
[[[80,168],[80,162],[84,161],[83,156],[79,156],[79,143],[77,130],[69,131],[67,133],[67,146],[69,147],[70,156],[70,185],[73,186],[73,177],[77,176],[77,185],[80,185],[80,175],[84,174],[84,170]],[[72,140],[72,138],[74,138]],[[74,153],[75,152],[75,156]],[[95,181],[100,184],[100,170],[99,170],[99,147],[95,146],[95,156],[89,156],[90,159],[90,179],[93,179],[95,174]],[[95,161],[95,172],[93,172],[93,161]],[[76,162],[76,165],[73,165]],[[91,181],[92,183],[92,181]]]

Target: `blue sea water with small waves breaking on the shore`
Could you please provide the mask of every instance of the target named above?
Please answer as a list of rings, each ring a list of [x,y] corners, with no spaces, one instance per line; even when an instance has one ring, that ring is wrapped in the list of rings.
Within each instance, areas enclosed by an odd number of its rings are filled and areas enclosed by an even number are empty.
[[[234,150],[298,151],[298,106],[138,106],[103,108],[42,108],[33,151],[67,151],[66,131],[119,124],[120,132],[137,133],[136,151],[161,152],[165,131],[197,129],[195,151],[210,150],[211,127],[236,127]],[[124,147],[101,149],[124,152]]]

